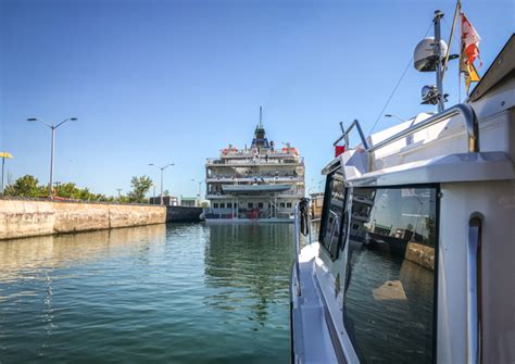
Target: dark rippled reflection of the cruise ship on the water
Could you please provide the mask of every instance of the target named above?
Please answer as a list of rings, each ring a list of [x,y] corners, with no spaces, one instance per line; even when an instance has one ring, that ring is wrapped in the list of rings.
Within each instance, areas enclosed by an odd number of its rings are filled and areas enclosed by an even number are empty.
[[[291,225],[210,226],[205,284],[218,289],[206,301],[265,325],[271,305],[287,302],[292,234]]]

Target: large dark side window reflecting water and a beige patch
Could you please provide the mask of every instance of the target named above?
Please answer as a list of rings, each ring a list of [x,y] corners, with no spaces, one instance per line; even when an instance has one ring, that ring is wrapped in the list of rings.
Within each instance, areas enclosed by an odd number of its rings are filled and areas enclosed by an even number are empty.
[[[346,329],[362,362],[432,363],[437,189],[354,188]]]

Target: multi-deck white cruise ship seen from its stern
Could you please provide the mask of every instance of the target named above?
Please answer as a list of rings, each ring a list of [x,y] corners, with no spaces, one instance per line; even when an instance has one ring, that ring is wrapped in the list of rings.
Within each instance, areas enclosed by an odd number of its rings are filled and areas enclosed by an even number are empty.
[[[260,108],[250,148],[229,145],[208,159],[205,185],[209,223],[292,223],[296,203],[304,197],[304,160],[290,143],[276,148],[268,141]]]

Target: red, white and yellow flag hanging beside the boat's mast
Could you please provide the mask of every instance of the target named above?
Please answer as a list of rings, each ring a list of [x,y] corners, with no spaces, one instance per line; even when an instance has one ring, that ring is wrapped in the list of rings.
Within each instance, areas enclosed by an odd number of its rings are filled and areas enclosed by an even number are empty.
[[[479,41],[481,38],[464,13],[461,13],[461,27],[462,49],[460,54],[460,72],[463,72],[465,75],[465,86],[467,87],[468,95],[470,83],[477,83],[480,79],[476,67],[474,66],[474,61],[477,58],[481,60],[479,57]],[[479,66],[481,65],[482,62]]]

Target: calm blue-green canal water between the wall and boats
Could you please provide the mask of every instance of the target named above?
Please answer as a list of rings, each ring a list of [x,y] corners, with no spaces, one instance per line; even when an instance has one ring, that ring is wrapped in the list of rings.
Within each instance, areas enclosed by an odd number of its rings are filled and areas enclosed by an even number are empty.
[[[287,363],[291,225],[0,241],[0,362]]]

